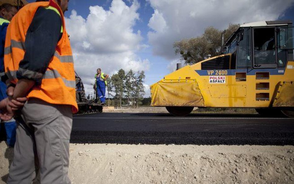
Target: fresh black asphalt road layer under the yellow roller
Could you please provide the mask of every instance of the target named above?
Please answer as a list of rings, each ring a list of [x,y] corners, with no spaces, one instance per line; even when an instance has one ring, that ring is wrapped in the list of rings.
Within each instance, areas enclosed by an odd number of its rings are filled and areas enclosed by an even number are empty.
[[[73,116],[71,143],[294,145],[294,119],[258,114],[96,113]]]

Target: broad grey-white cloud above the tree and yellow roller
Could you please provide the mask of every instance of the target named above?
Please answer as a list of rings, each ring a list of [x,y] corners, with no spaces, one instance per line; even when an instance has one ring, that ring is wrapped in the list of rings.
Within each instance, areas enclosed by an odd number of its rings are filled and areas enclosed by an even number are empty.
[[[175,59],[175,41],[203,34],[205,28],[225,29],[229,23],[243,24],[277,20],[294,0],[147,0],[154,8],[148,38],[153,53]]]

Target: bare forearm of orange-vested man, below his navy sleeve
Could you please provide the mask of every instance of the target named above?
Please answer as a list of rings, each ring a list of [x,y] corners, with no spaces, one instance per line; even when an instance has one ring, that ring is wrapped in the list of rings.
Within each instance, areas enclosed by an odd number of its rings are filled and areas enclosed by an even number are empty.
[[[29,79],[20,79],[13,92],[13,99],[26,96],[34,86],[35,81]]]

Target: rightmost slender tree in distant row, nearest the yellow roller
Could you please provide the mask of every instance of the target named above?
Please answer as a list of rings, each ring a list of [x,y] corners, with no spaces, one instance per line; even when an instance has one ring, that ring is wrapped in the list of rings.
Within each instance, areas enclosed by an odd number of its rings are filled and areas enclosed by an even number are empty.
[[[145,94],[144,91],[144,79],[145,79],[145,73],[144,71],[138,71],[136,74],[136,83],[134,86],[134,99],[136,101],[136,108],[138,108],[139,101],[143,99],[143,96]],[[135,104],[134,104],[135,107]]]

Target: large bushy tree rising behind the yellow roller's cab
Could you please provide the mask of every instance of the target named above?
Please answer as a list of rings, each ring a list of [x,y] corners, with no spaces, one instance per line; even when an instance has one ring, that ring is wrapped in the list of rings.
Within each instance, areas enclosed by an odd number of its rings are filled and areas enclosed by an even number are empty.
[[[239,26],[238,24],[229,24],[228,28],[225,30],[225,40],[227,40]],[[212,57],[217,56],[221,51],[222,32],[223,31],[215,29],[214,27],[208,27],[201,36],[175,42],[173,45],[175,53],[180,54],[181,60],[190,65],[203,61],[208,54]]]

